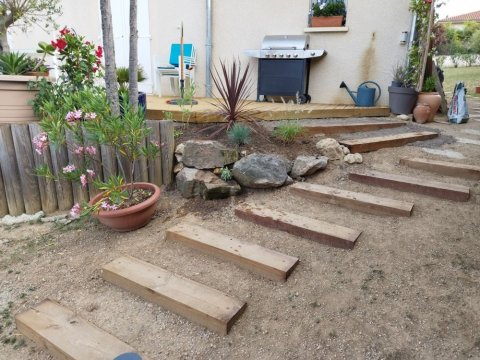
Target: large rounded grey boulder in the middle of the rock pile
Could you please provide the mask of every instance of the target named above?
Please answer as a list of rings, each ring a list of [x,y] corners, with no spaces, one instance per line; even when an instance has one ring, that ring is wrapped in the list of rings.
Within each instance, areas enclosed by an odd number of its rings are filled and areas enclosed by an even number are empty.
[[[233,177],[250,188],[282,186],[292,169],[290,161],[275,154],[251,154],[233,165]]]

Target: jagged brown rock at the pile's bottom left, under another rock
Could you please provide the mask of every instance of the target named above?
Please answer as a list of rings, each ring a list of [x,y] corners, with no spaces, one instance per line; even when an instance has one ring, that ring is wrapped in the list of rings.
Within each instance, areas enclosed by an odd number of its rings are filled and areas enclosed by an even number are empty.
[[[176,177],[177,189],[185,198],[201,196],[205,200],[223,199],[237,195],[240,185],[225,182],[210,171],[183,168]]]

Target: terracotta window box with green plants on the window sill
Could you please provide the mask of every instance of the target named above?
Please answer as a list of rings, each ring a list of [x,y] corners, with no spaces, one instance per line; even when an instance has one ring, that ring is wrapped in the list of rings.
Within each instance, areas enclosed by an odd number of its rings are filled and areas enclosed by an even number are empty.
[[[343,26],[346,8],[343,0],[317,1],[312,5],[312,27],[337,27]]]

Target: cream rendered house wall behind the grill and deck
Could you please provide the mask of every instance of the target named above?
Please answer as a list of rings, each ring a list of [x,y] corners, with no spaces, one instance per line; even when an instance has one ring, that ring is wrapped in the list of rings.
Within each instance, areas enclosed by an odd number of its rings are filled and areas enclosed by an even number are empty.
[[[111,0],[117,65],[128,64],[128,0]],[[63,0],[63,15],[57,22],[78,34],[101,43],[100,11],[97,0]],[[265,35],[310,36],[311,49],[324,49],[328,55],[313,59],[310,68],[309,94],[312,102],[351,104],[352,99],[339,85],[345,81],[356,90],[367,80],[382,88],[380,105],[388,105],[392,69],[403,64],[412,26],[409,0],[348,0],[345,26],[310,28],[310,0],[138,0],[139,59],[148,80],[142,84],[147,92],[154,88],[155,64],[168,63],[170,45],[179,42],[183,22],[184,41],[197,50],[196,96],[207,93],[207,56],[212,65],[220,60],[240,59],[249,62],[256,83],[258,60],[244,54],[259,49]],[[207,38],[207,19],[211,15],[211,39]],[[407,33],[407,34],[405,34]],[[14,50],[34,51],[38,41],[50,41],[55,34],[33,29],[28,34],[10,34]],[[405,42],[404,40],[407,39]],[[209,44],[210,42],[210,44]],[[169,89],[168,79],[163,89]],[[255,94],[252,94],[255,98]]]

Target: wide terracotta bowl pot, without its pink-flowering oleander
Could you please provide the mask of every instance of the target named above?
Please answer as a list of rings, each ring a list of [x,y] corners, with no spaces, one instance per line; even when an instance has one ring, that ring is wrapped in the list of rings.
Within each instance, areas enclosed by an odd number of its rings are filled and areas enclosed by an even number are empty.
[[[120,210],[100,210],[93,216],[102,224],[115,231],[132,231],[145,226],[157,208],[157,202],[160,199],[160,188],[151,183],[134,183],[133,187],[136,189],[151,190],[153,194],[140,204]],[[102,196],[103,193],[98,194],[90,200],[89,204],[95,204]]]

